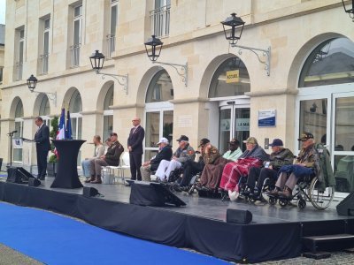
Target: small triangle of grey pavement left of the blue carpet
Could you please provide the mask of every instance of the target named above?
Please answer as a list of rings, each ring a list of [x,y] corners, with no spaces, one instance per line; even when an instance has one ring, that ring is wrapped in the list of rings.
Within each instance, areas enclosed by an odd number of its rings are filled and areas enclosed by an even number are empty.
[[[41,265],[43,263],[35,261],[27,255],[21,254],[10,247],[0,244],[0,264],[1,265]]]

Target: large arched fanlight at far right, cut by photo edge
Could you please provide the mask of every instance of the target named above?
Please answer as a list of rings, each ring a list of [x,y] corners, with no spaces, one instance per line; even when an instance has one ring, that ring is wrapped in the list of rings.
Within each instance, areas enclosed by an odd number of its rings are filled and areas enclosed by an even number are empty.
[[[330,39],[313,49],[300,74],[298,87],[354,82],[354,42]]]

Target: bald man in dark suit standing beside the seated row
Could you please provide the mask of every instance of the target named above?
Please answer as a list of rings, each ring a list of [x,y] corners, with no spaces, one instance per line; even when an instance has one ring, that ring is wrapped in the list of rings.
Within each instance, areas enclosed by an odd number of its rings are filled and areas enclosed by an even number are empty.
[[[140,118],[135,117],[132,120],[133,128],[130,130],[129,137],[127,139],[127,149],[129,150],[130,160],[130,173],[132,179],[142,180],[142,174],[140,167],[142,166],[142,140],[145,137],[145,131],[140,125]]]

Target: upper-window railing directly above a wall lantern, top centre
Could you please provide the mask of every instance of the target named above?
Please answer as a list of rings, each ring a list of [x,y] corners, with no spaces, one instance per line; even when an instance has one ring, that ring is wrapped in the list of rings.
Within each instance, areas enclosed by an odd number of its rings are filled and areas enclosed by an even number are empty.
[[[151,34],[166,37],[170,34],[170,5],[150,11]]]

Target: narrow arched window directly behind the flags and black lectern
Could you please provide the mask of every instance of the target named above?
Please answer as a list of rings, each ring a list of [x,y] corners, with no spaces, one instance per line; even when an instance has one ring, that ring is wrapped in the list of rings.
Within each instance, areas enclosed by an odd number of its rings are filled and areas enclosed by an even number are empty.
[[[73,92],[69,102],[70,117],[72,121],[73,140],[81,140],[82,133],[82,102],[81,95],[78,90]]]

